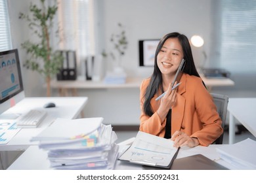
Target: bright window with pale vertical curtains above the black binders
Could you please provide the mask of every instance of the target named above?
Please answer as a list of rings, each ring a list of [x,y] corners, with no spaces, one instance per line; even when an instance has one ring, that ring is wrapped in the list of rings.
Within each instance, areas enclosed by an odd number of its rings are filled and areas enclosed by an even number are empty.
[[[77,63],[95,54],[93,0],[58,0],[60,48],[75,50]]]

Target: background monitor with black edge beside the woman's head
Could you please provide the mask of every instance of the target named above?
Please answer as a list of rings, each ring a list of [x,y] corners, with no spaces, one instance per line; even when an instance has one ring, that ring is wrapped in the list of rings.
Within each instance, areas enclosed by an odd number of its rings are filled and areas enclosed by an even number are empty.
[[[139,40],[140,66],[154,66],[156,48],[160,39]]]

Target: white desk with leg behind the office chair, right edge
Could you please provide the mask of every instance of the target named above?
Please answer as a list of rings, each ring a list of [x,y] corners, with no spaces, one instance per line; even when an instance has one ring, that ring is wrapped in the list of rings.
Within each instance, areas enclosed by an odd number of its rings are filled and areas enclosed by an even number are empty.
[[[229,111],[229,144],[234,144],[236,118],[254,137],[256,137],[256,98],[230,98],[228,99]]]

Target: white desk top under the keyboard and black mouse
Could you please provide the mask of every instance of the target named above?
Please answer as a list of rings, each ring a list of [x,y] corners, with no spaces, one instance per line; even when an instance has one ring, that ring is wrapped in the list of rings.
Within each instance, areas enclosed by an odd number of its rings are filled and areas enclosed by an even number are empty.
[[[45,103],[53,102],[54,108],[43,108]],[[47,117],[37,128],[23,128],[7,144],[0,144],[0,151],[26,150],[30,145],[31,137],[39,134],[56,118],[74,119],[79,116],[87,103],[87,97],[28,97],[20,101],[7,112],[24,113],[30,109],[46,110]]]

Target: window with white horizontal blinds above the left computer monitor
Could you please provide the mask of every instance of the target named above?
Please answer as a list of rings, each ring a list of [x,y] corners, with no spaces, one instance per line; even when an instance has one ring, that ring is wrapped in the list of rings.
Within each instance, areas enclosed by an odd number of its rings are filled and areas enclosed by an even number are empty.
[[[11,31],[7,0],[0,0],[0,51],[11,50]]]

